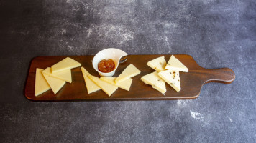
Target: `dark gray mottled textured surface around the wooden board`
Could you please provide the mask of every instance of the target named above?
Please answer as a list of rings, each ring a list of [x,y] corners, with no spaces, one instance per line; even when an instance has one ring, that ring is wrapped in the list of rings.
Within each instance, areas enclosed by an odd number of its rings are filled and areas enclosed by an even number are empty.
[[[29,62],[42,55],[190,54],[229,67],[232,84],[194,100],[32,102]],[[1,0],[0,142],[256,142],[253,0]]]

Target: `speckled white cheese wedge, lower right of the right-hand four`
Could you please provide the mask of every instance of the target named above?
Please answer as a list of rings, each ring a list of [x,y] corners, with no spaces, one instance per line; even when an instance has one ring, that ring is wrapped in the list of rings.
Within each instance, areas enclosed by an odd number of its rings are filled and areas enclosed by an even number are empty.
[[[173,87],[177,92],[180,91],[180,74],[179,71],[166,70],[158,73],[165,82],[167,82],[170,87]]]

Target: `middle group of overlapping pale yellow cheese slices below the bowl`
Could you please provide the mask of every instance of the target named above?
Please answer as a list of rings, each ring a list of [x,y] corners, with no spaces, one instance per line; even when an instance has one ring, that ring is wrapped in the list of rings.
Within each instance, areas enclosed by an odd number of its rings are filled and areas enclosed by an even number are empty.
[[[140,74],[140,70],[133,64],[129,64],[119,77],[95,77],[83,67],[81,67],[81,71],[83,73],[84,81],[86,82],[88,94],[102,89],[109,95],[109,97],[116,91],[116,89],[118,89],[118,87],[129,91],[132,85],[131,78]]]

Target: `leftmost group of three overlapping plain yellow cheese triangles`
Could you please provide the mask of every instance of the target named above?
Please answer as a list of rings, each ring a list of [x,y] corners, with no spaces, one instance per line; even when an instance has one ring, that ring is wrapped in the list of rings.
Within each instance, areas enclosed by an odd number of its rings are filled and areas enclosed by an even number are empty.
[[[71,69],[81,66],[78,61],[69,57],[54,64],[52,67],[44,69],[37,68],[35,76],[35,96],[52,89],[56,94],[64,85],[65,82],[72,82]]]

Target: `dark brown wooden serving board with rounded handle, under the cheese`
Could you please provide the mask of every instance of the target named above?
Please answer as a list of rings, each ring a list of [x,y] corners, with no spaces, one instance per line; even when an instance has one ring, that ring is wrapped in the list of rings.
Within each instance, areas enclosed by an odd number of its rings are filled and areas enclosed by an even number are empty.
[[[86,84],[83,80],[81,67],[72,69],[73,82],[66,83],[57,94],[53,94],[52,90],[40,94],[35,97],[35,71],[36,68],[45,69],[58,61],[65,59],[67,56],[38,56],[32,59],[29,73],[27,76],[27,84],[25,87],[25,96],[27,99],[37,101],[58,101],[58,100],[145,100],[145,99],[195,99],[201,92],[201,87],[208,82],[221,82],[229,84],[234,81],[235,75],[232,69],[204,69],[196,64],[196,61],[189,55],[174,55],[185,66],[188,72],[180,72],[180,92],[166,84],[167,92],[165,96],[153,89],[150,85],[140,80],[145,74],[150,74],[154,70],[147,66],[147,61],[155,59],[163,55],[129,55],[127,61],[119,64],[114,77],[117,77],[129,64],[134,64],[140,69],[141,74],[133,77],[132,86],[128,91],[117,89],[114,94],[109,97],[102,90],[88,94]],[[168,62],[170,55],[164,55]],[[93,69],[93,56],[69,56],[80,62],[92,75],[99,77],[99,74]]]

